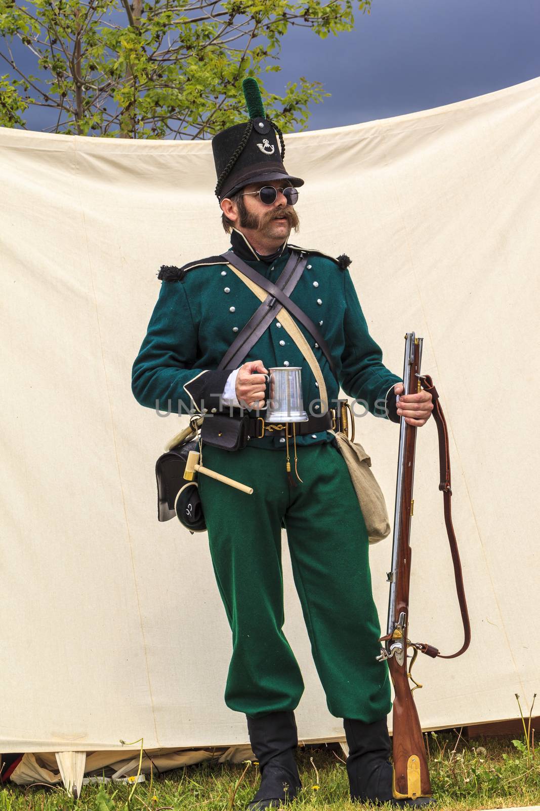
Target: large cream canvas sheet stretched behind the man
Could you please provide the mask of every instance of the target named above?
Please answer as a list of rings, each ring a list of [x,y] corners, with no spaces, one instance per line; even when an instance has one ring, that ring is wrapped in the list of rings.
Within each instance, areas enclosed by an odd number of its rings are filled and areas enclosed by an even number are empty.
[[[287,136],[306,179],[306,247],[351,255],[385,363],[424,338],[447,414],[468,653],[422,658],[425,728],[506,719],[540,692],[538,255],[540,79],[421,113]],[[229,747],[230,634],[206,535],[159,524],[155,458],[181,427],[142,409],[130,369],[161,264],[227,247],[208,142],[0,130],[2,708],[0,752]],[[398,427],[357,431],[393,504]],[[436,431],[419,432],[410,633],[461,642]],[[385,625],[391,542],[372,548]],[[303,740],[338,740],[284,547],[286,633]],[[128,753],[129,757],[132,757]],[[128,757],[118,752],[118,759]],[[75,775],[75,776],[74,776]]]

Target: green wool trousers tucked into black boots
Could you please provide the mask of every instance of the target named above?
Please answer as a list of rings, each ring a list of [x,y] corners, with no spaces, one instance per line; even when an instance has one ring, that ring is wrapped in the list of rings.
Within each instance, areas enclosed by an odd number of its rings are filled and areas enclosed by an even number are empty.
[[[291,448],[292,451],[292,448]],[[225,702],[257,717],[295,710],[304,692],[283,633],[281,528],[330,713],[379,720],[391,708],[388,666],[372,598],[368,534],[345,461],[330,443],[298,448],[303,483],[287,482],[285,453],[203,447],[202,464],[253,487],[248,496],[198,476],[232,659]],[[294,475],[294,474],[293,474]]]

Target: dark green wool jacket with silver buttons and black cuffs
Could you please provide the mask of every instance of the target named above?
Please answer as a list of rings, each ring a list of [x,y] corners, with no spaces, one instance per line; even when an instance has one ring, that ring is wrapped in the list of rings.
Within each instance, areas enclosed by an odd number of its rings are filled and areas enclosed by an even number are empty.
[[[289,258],[283,246],[272,260],[263,260],[239,232],[233,232],[232,248],[270,281],[278,280]],[[369,410],[398,422],[393,385],[401,380],[382,363],[381,348],[368,333],[355,286],[344,261],[318,251],[305,251],[308,264],[291,299],[301,307],[325,337],[336,367],[338,381],[348,397],[357,399],[355,414]],[[231,369],[217,367],[260,300],[227,267],[225,260],[210,257],[183,268],[162,268],[159,298],[152,312],[132,371],[132,391],[141,405],[161,414],[198,413],[220,409],[220,396]],[[329,406],[338,398],[338,381],[313,337],[298,324],[321,366]],[[236,328],[236,329],[235,329]],[[312,403],[319,413],[320,395],[312,371],[288,333],[274,320],[242,363],[261,359],[266,368],[302,367],[304,408]],[[288,364],[286,363],[288,362]],[[228,408],[223,407],[228,413]],[[174,430],[172,431],[174,432]],[[326,431],[299,436],[297,444],[332,440]],[[248,447],[282,448],[283,440],[266,434],[252,438]]]

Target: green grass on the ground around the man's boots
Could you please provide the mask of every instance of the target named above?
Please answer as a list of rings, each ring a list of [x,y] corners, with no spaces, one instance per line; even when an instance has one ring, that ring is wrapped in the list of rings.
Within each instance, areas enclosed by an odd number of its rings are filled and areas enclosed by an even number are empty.
[[[534,733],[464,740],[455,732],[426,736],[438,811],[540,805],[540,757]],[[325,747],[300,748],[303,789],[291,811],[358,811],[348,800],[342,755]],[[83,786],[79,800],[62,788],[16,787],[0,791],[0,811],[233,811],[245,809],[258,785],[254,764],[206,762],[147,776],[146,783]]]

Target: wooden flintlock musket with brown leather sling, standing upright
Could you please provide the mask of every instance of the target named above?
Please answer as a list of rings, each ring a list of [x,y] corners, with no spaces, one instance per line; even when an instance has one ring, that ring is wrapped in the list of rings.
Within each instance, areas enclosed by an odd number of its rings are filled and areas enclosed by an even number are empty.
[[[420,375],[422,358],[422,338],[415,333],[405,336],[405,363],[403,368],[404,394],[419,392],[420,388],[432,393],[433,417],[439,435],[440,484],[444,497],[444,522],[452,551],[457,597],[461,608],[461,620],[465,641],[455,654],[443,656],[439,650],[424,642],[410,642],[409,633],[409,586],[410,586],[410,517],[413,514],[413,482],[415,476],[416,427],[405,419],[400,421],[398,483],[396,487],[396,507],[393,524],[392,570],[387,578],[390,583],[388,625],[385,643],[381,649],[380,661],[387,660],[395,693],[393,701],[393,796],[396,798],[428,797],[432,787],[427,770],[426,750],[422,727],[412,693],[421,687],[410,671],[419,651],[435,658],[453,659],[464,653],[470,644],[470,622],[467,613],[465,592],[461,577],[461,564],[457,551],[456,536],[452,526],[450,498],[449,440],[444,414],[440,408],[439,395],[429,375]],[[412,648],[410,665],[407,663],[407,649]],[[415,684],[410,688],[409,679]]]

